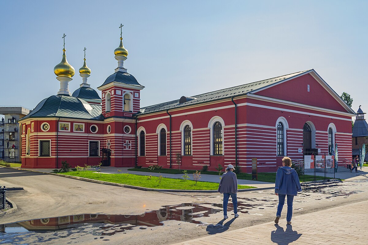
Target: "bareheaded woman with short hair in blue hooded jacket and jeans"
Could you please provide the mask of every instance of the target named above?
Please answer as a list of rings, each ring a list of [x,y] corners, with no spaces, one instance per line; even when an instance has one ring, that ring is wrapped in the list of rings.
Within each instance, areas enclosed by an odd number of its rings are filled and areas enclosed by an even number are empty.
[[[291,168],[291,159],[284,157],[282,159],[282,167],[277,169],[275,181],[275,194],[279,196],[279,205],[277,206],[277,213],[275,223],[279,223],[281,211],[287,197],[287,224],[291,224],[291,216],[293,216],[293,200],[294,196],[301,191],[301,185],[297,172]]]

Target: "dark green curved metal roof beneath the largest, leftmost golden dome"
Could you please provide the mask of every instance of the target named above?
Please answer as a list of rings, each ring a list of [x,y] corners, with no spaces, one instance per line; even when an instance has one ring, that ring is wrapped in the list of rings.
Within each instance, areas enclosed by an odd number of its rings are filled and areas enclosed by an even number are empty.
[[[19,121],[28,118],[76,118],[103,120],[102,106],[70,96],[53,95],[39,102],[35,109]]]

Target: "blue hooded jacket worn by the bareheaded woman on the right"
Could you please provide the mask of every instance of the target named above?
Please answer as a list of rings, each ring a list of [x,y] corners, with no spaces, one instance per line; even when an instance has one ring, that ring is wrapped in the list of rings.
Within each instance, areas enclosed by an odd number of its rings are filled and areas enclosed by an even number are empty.
[[[296,196],[300,191],[297,172],[291,167],[279,167],[276,173],[275,193]]]

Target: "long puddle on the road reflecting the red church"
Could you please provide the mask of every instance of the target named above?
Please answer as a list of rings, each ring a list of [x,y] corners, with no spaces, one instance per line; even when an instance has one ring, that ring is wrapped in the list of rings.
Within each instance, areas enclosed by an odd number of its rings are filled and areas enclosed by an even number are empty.
[[[81,214],[61,217],[52,217],[45,219],[35,219],[21,221],[18,223],[6,224],[3,226],[3,231],[6,232],[5,227],[24,227],[28,231],[53,231],[62,230],[66,228],[75,227],[76,224],[86,223],[104,223],[104,224],[129,224],[129,228],[135,226],[162,226],[162,221],[177,220],[186,221],[195,224],[201,222],[195,220],[202,216],[209,216],[217,213],[221,209],[214,209],[205,207],[199,204],[183,203],[181,205],[166,206],[165,208],[146,212],[142,215],[104,215],[104,214]],[[124,230],[126,226],[122,227]],[[109,234],[105,234],[109,235]]]

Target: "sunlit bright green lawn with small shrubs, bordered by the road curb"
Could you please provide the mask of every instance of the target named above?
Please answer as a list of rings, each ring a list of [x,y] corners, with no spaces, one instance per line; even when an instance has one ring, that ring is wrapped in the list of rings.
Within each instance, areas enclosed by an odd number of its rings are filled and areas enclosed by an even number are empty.
[[[219,188],[218,183],[202,182],[198,181],[195,185],[195,181],[182,179],[170,179],[162,178],[159,183],[159,177],[152,176],[148,179],[148,176],[135,175],[135,174],[100,174],[93,173],[96,171],[71,171],[67,173],[59,173],[71,176],[78,176],[92,180],[102,180],[118,184],[135,185],[140,187],[155,188],[155,189],[173,189],[173,190],[217,190]],[[238,189],[255,188],[247,185],[238,185]]]

